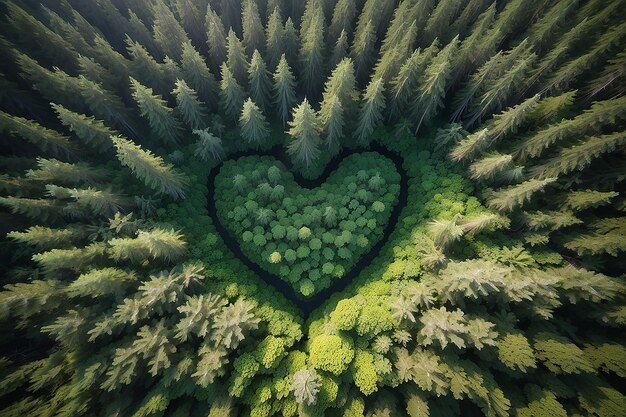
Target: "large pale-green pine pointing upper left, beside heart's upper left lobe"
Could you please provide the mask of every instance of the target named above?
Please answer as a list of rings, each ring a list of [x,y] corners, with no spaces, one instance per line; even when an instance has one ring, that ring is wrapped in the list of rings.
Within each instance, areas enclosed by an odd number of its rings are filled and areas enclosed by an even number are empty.
[[[163,162],[159,156],[121,136],[112,136],[111,140],[117,150],[117,158],[122,165],[130,170],[150,188],[167,193],[175,199],[185,197],[183,188],[185,178],[174,171],[171,165]]]

